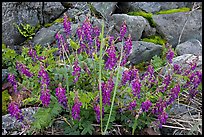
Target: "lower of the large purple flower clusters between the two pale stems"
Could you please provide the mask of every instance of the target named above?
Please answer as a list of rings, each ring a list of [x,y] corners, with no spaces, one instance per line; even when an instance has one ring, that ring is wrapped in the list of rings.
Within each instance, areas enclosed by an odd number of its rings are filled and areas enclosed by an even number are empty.
[[[112,78],[110,78],[106,83],[102,83],[101,85],[102,88],[102,101],[103,104],[106,105],[110,105],[110,97],[111,97],[111,92],[114,88],[114,82],[112,80]]]

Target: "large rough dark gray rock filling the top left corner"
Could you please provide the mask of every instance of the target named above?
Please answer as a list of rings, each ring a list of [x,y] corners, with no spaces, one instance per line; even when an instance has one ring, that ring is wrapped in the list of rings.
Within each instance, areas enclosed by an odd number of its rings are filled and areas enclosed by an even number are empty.
[[[36,26],[42,20],[38,18],[42,13],[41,2],[3,2],[2,3],[2,42],[10,48],[26,39],[13,25],[30,24]]]

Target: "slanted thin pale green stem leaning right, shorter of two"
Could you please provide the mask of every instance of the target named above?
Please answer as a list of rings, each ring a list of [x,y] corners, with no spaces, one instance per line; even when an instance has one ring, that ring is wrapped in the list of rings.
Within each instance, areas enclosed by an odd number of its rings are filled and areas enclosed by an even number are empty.
[[[123,41],[122,41],[123,43]],[[122,44],[123,45],[123,44]],[[111,102],[111,109],[110,109],[110,113],[109,113],[109,117],[108,117],[108,121],[107,121],[107,124],[106,124],[106,128],[105,128],[105,131],[104,131],[104,134],[106,133],[107,129],[108,129],[108,125],[109,125],[109,122],[110,122],[110,117],[111,117],[111,114],[112,114],[112,110],[113,110],[113,104],[114,104],[114,101],[115,101],[115,95],[116,95],[116,90],[117,90],[117,87],[118,87],[118,79],[119,79],[119,75],[120,75],[120,70],[121,70],[121,67],[120,67],[120,63],[122,61],[122,53],[123,53],[123,46],[121,47],[121,54],[120,54],[120,60],[119,60],[119,64],[118,64],[118,72],[117,72],[117,76],[116,76],[116,82],[115,82],[115,87],[114,87],[114,93],[113,93],[113,98],[112,98],[112,102]]]

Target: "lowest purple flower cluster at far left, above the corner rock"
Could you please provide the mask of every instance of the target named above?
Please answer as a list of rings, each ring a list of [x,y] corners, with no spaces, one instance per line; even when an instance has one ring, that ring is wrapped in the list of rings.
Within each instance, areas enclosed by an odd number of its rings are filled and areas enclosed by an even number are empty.
[[[15,117],[17,120],[23,120],[22,111],[19,109],[19,105],[16,102],[12,101],[8,104],[8,112],[11,114],[12,117]]]

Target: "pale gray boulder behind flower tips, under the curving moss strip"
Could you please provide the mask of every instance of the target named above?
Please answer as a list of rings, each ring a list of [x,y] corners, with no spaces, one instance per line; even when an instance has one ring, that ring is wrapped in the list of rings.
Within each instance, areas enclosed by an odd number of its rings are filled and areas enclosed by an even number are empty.
[[[117,37],[120,33],[120,28],[122,23],[126,21],[127,24],[127,33],[125,37],[129,34],[133,41],[137,41],[141,38],[142,33],[146,27],[148,27],[148,21],[141,17],[141,16],[129,16],[127,14],[113,14],[112,15],[112,22],[115,26],[115,29],[111,32],[111,35]]]

